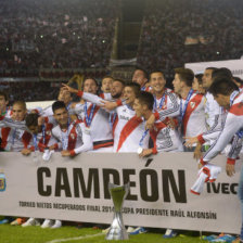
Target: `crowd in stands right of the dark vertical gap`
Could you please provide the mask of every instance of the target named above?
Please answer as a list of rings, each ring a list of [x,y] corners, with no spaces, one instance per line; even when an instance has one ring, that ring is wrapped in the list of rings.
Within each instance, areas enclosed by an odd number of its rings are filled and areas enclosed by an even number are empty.
[[[243,1],[153,0],[148,2],[138,52],[146,69],[171,74],[184,63],[240,59]]]

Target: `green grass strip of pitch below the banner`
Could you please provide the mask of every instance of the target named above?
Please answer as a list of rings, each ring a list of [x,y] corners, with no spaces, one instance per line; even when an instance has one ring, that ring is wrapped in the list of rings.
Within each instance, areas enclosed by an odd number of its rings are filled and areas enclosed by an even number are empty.
[[[41,229],[40,227],[27,227],[23,228],[21,226],[0,226],[0,243],[46,243],[48,241],[56,239],[68,239],[78,238],[90,234],[101,233],[101,230],[93,230],[92,228],[77,229],[75,227],[62,227],[60,229]],[[144,233],[138,235],[131,235],[128,241],[106,241],[105,234],[90,238],[90,239],[79,239],[75,241],[65,241],[65,243],[103,243],[103,242],[129,242],[129,243],[194,243],[204,242],[201,241],[199,236],[192,236],[193,232],[187,232],[187,235],[179,235],[174,239],[163,239],[162,233]],[[63,241],[64,242],[64,241]]]

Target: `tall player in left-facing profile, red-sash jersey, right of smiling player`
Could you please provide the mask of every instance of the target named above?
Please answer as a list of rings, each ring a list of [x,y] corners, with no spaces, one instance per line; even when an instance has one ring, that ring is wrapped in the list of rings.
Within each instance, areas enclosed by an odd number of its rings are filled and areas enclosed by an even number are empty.
[[[182,136],[200,135],[201,132],[206,131],[204,97],[192,90],[192,81],[194,79],[192,71],[188,68],[177,68],[175,72],[176,74],[172,85],[175,93],[180,95],[181,99],[169,92],[168,94],[170,97],[171,107],[167,107],[165,110],[161,108],[155,113],[155,116],[152,115],[152,119],[150,117],[146,122],[148,128],[152,127],[155,119],[159,118],[163,120],[168,116],[179,116],[179,126],[181,127]],[[153,80],[151,84],[153,87]]]

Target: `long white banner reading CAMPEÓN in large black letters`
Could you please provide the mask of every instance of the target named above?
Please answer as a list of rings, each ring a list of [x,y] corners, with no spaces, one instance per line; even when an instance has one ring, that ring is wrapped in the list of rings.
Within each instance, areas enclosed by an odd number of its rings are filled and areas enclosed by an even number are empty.
[[[1,153],[0,178],[5,177],[7,187],[0,191],[0,215],[111,223],[107,183],[130,181],[124,202],[127,226],[239,233],[241,163],[232,178],[226,176],[225,156],[214,163],[222,172],[194,195],[190,188],[197,178],[197,163],[192,153],[146,159],[132,153],[84,153],[73,159],[55,153],[48,163],[41,154],[35,163],[31,156]]]

